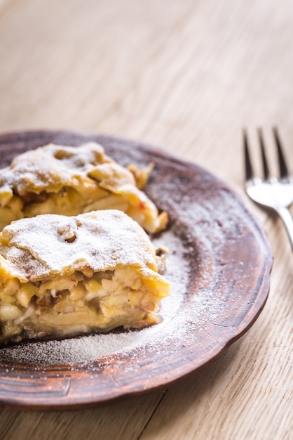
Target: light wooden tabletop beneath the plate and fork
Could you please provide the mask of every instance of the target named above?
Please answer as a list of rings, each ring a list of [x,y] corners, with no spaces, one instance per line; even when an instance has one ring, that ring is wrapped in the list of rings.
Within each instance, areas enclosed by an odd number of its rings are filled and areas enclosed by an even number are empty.
[[[278,125],[293,167],[293,2],[1,0],[0,132],[139,139],[229,182],[275,262],[261,316],[199,373],[90,410],[0,410],[14,439],[293,439],[293,255],[243,192],[241,129]],[[273,157],[273,152],[271,153]]]

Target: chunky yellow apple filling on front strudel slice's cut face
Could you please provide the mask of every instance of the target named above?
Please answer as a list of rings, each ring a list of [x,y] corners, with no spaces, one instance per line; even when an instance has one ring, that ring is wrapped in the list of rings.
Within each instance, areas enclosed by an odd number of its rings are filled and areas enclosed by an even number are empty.
[[[18,342],[27,335],[64,337],[153,325],[160,321],[154,312],[168,286],[158,289],[131,267],[97,273],[88,267],[35,283],[9,278],[0,292],[2,342]]]

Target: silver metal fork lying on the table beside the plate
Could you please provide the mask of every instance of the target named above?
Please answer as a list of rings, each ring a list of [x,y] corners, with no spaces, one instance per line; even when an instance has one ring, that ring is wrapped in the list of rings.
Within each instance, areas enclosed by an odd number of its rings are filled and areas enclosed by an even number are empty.
[[[293,250],[293,219],[289,212],[289,206],[293,202],[293,179],[289,174],[285,156],[282,153],[280,136],[278,130],[273,128],[273,137],[278,152],[278,162],[280,177],[272,177],[268,168],[266,152],[264,146],[264,136],[261,129],[257,131],[259,145],[261,148],[261,158],[264,170],[264,179],[255,176],[252,169],[252,161],[248,146],[247,131],[243,130],[243,141],[245,148],[245,188],[247,195],[257,202],[261,207],[273,209],[282,219],[285,225],[289,241]]]

